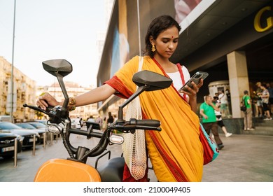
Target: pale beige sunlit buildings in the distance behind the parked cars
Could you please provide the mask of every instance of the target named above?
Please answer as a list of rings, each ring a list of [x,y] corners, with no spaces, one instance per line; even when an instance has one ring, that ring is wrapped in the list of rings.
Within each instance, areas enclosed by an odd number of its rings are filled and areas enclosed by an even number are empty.
[[[11,64],[3,57],[0,57],[0,116],[11,115]],[[82,87],[78,83],[65,82],[69,97],[76,97],[78,94],[91,90],[92,87]],[[23,104],[36,105],[36,99],[42,92],[49,92],[57,100],[64,99],[59,83],[53,83],[50,86],[36,86],[36,81],[31,80],[22,71],[13,67],[13,120],[14,122],[22,122],[46,118],[43,113],[25,108]],[[71,111],[70,117],[81,117],[87,120],[90,116],[97,117],[97,104],[77,107],[75,111]]]

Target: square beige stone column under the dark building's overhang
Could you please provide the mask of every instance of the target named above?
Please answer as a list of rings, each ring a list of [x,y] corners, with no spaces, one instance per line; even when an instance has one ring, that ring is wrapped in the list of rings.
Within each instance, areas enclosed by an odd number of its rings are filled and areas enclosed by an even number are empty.
[[[244,90],[249,92],[246,54],[244,51],[233,51],[227,55],[227,59],[232,118],[242,118],[244,113],[240,111],[239,103],[244,95]]]

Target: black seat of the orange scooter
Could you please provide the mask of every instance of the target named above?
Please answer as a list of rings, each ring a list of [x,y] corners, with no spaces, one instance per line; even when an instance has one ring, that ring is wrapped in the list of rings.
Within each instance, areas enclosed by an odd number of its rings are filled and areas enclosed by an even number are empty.
[[[101,176],[102,182],[122,182],[124,165],[124,158],[118,157],[112,158],[99,167],[97,171]]]

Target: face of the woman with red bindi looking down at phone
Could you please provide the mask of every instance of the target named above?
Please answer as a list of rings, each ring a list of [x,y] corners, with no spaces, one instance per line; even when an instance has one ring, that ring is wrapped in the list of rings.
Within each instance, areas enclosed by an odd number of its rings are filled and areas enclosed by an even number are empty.
[[[179,43],[179,30],[173,26],[158,35],[154,41],[157,53],[161,57],[168,58],[172,56]]]

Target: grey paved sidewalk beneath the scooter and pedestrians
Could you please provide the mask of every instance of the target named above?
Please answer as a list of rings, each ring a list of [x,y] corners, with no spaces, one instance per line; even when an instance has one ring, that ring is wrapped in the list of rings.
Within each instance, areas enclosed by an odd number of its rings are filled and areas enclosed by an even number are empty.
[[[273,182],[272,136],[233,134],[226,138],[221,134],[221,139],[225,147],[214,162],[204,166],[203,182]],[[95,140],[74,137],[72,144],[91,148]],[[121,146],[113,145],[108,149],[111,150],[111,158],[121,155]],[[43,162],[67,157],[68,153],[59,139],[57,143],[53,141],[52,146],[36,146],[35,155],[31,150],[19,153],[17,167],[14,167],[13,159],[0,158],[0,181],[31,182]],[[94,167],[95,160],[89,158],[87,164]],[[156,181],[153,170],[149,170],[148,176],[151,181]]]

